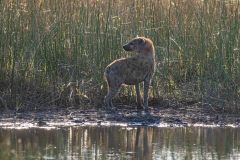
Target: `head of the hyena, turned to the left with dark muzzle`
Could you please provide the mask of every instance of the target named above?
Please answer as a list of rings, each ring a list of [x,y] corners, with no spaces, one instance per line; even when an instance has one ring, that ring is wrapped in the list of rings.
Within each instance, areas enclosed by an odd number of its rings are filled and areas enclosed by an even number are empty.
[[[136,37],[123,46],[123,49],[128,52],[150,52],[153,51],[153,43],[145,37]]]

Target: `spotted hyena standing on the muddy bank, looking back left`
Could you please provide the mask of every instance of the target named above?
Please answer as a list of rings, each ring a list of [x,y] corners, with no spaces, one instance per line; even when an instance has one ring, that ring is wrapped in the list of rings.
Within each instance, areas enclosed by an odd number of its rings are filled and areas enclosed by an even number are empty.
[[[140,83],[144,82],[143,108],[148,108],[148,90],[155,69],[155,49],[153,42],[145,37],[136,37],[123,45],[127,52],[136,52],[137,55],[122,58],[109,64],[104,72],[108,84],[108,93],[104,102],[106,107],[113,107],[112,98],[117,94],[122,84],[135,85],[136,101],[142,107]]]

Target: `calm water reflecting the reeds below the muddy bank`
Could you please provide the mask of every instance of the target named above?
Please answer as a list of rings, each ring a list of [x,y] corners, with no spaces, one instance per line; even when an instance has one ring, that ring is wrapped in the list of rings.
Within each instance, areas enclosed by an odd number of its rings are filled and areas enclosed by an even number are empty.
[[[0,159],[240,159],[240,128],[0,129]]]

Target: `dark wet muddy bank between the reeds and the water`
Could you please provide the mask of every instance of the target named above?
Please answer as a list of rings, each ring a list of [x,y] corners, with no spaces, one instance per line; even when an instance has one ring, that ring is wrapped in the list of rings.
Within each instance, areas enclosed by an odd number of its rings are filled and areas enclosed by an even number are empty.
[[[207,107],[157,107],[146,113],[133,106],[117,105],[114,110],[51,107],[34,111],[4,111],[0,127],[64,127],[83,125],[125,126],[233,126],[240,127],[238,114],[218,113]]]

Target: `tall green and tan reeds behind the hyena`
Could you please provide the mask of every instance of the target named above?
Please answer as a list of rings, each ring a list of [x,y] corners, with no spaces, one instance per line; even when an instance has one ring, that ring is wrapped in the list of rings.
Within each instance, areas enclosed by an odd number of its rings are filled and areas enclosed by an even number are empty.
[[[104,68],[141,35],[156,46],[151,97],[239,111],[239,32],[238,0],[1,0],[0,108],[69,106],[69,82],[100,104]]]

